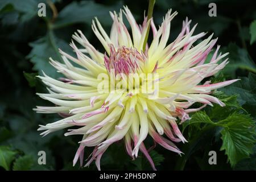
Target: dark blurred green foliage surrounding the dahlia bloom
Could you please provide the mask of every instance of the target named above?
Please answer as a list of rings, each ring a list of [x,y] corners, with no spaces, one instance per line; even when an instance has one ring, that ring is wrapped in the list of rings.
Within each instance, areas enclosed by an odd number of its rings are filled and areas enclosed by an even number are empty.
[[[38,4],[46,3],[46,17],[38,16]],[[210,17],[209,3],[217,5],[217,16]],[[95,170],[80,168],[79,164],[72,167],[72,160],[78,148],[80,136],[64,137],[65,131],[58,131],[42,138],[38,125],[57,121],[57,114],[36,114],[32,111],[36,105],[51,105],[43,101],[36,92],[47,92],[42,82],[35,76],[44,70],[49,76],[59,77],[59,73],[48,64],[48,58],[60,60],[58,48],[72,54],[71,36],[77,29],[84,32],[86,38],[97,49],[103,51],[100,42],[94,36],[91,23],[94,16],[100,20],[106,31],[110,31],[112,20],[109,11],[119,11],[127,5],[138,23],[142,23],[148,1],[43,1],[13,0],[0,1],[0,170]],[[159,25],[168,9],[178,11],[171,22],[170,42],[179,34],[182,21],[192,19],[192,26],[198,23],[196,33],[214,33],[218,37],[221,52],[229,52],[228,66],[214,80],[228,80],[241,77],[240,83],[222,89],[223,100],[230,102],[224,110],[245,110],[245,114],[255,119],[256,106],[256,6],[254,1],[208,1],[208,0],[156,0],[154,22]],[[151,35],[151,34],[150,34]],[[232,98],[230,98],[230,97]],[[236,98],[233,98],[236,97]],[[231,103],[232,102],[232,103]],[[235,105],[235,106],[234,106]],[[217,106],[216,106],[217,107]],[[239,107],[239,108],[238,108]],[[219,110],[218,110],[219,109]],[[221,110],[205,112],[211,119],[225,119]],[[215,112],[215,113],[214,113]],[[223,134],[217,128],[203,133],[204,126],[196,125],[184,128],[185,138],[192,143],[177,144],[186,155],[177,156],[173,152],[156,146],[150,155],[159,170],[255,170],[256,158],[253,143],[241,146],[240,140],[231,138],[241,151],[225,149]],[[201,133],[197,136],[197,133]],[[222,135],[221,135],[222,134]],[[221,137],[222,136],[222,137]],[[251,136],[250,136],[251,137]],[[195,142],[196,141],[196,142]],[[152,146],[151,139],[147,147]],[[248,147],[248,148],[246,148]],[[220,151],[220,149],[222,150]],[[208,152],[217,152],[217,165],[209,165]],[[38,164],[38,152],[46,151],[46,165]],[[248,154],[245,154],[246,151]],[[85,159],[92,148],[85,150]],[[228,153],[231,152],[230,154]],[[233,153],[232,153],[233,152]],[[250,156],[250,159],[248,159]],[[246,159],[247,158],[247,159]],[[125,152],[123,142],[113,144],[105,152],[101,160],[101,168],[109,170],[146,170],[151,169],[144,156],[131,160]],[[229,162],[228,162],[229,161]],[[231,162],[230,162],[231,161]],[[233,161],[233,162],[232,162]],[[232,164],[232,166],[230,165]]]

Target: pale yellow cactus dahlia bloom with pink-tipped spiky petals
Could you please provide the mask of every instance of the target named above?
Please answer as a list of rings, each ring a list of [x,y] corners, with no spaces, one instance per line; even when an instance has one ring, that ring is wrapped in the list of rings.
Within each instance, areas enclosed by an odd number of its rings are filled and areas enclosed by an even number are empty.
[[[123,23],[122,14],[131,26],[131,35]],[[158,29],[153,20],[147,20],[146,17],[142,25],[138,25],[127,7],[119,15],[115,12],[110,15],[113,19],[110,36],[97,18],[92,22],[92,30],[105,48],[105,53],[97,51],[82,32],[77,31],[72,38],[84,48],[78,48],[72,41],[71,47],[76,57],[60,50],[63,63],[50,59],[53,67],[65,77],[55,80],[45,74],[38,76],[49,90],[47,94],[38,95],[56,106],[37,106],[35,110],[38,113],[59,113],[64,117],[46,126],[40,125],[38,130],[46,130],[41,135],[47,135],[75,126],[65,133],[65,136],[82,135],[73,165],[78,159],[82,164],[85,147],[94,147],[85,166],[96,160],[96,166],[100,169],[102,154],[110,144],[124,139],[127,154],[131,158],[137,157],[140,150],[155,169],[143,143],[147,135],[167,150],[181,154],[173,142],[184,143],[187,140],[177,126],[178,120],[183,123],[189,119],[189,113],[206,105],[212,106],[212,103],[225,106],[210,93],[237,80],[200,84],[204,78],[214,75],[228,64],[228,59],[220,63],[228,53],[218,54],[220,46],[217,46],[209,63],[205,63],[217,39],[211,40],[213,35],[210,35],[195,44],[205,33],[193,35],[196,25],[190,29],[191,20],[188,19],[183,22],[183,28],[174,42],[167,44],[171,20],[177,12],[171,14],[171,10],[168,11]],[[143,51],[149,26],[154,38]],[[131,73],[144,73],[146,76],[157,74],[158,78],[150,80],[143,77],[137,84],[131,85]],[[119,75],[119,81],[130,81],[127,85],[131,89],[127,91],[124,84],[115,87],[112,92],[101,93],[98,90],[98,85],[102,84],[102,80],[98,79],[101,74],[109,76],[110,81],[104,80],[104,84],[107,82],[108,86],[116,86],[116,77]],[[111,79],[113,77],[114,80]],[[152,90],[138,92],[144,84],[155,83],[157,86]],[[155,93],[158,93],[157,97],[150,97]],[[201,103],[201,107],[193,107],[195,102]]]

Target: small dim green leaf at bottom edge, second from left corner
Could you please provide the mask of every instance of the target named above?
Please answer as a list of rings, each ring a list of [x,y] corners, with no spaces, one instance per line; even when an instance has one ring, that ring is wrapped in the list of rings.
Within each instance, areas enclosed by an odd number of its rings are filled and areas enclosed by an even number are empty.
[[[15,160],[13,171],[28,171],[34,164],[34,159],[30,155],[20,156]]]

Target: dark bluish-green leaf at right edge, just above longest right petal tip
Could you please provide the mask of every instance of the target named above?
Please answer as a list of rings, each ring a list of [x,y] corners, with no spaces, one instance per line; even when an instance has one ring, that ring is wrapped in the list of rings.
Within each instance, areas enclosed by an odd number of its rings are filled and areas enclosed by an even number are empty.
[[[229,64],[222,70],[224,75],[236,77],[236,70],[238,68],[256,73],[256,65],[251,60],[249,53],[236,44],[230,43],[228,47],[222,48],[221,52],[229,52]]]

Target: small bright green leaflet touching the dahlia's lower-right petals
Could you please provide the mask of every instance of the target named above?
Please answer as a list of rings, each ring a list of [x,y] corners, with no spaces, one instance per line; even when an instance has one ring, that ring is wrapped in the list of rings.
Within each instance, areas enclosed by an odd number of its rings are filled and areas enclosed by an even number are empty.
[[[210,123],[214,124],[212,120],[210,120],[209,116],[205,111],[198,111],[192,115],[191,119],[183,123],[183,131],[188,125],[192,125],[194,123]]]

